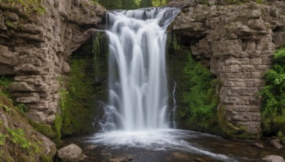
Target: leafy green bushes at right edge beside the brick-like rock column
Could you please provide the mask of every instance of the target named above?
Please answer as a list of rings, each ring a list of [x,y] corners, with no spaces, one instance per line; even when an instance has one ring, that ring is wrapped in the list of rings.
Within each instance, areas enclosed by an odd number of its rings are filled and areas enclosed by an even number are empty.
[[[266,86],[262,95],[264,134],[285,134],[285,48],[276,50],[274,65],[264,73]]]

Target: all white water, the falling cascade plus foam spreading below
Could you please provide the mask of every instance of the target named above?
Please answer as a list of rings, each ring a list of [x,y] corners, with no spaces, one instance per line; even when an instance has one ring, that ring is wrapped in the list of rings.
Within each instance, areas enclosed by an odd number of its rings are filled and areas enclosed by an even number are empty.
[[[169,121],[175,120],[176,101],[173,98],[169,112],[165,30],[178,12],[175,8],[108,12],[109,103],[100,122],[103,133],[89,141],[113,148],[189,151],[229,161],[185,141],[192,136],[188,131],[168,129],[176,125]],[[176,83],[173,97],[175,88]]]

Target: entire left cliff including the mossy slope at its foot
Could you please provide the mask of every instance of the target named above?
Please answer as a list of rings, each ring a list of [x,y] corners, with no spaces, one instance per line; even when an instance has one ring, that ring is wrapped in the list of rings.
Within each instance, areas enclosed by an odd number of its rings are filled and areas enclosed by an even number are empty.
[[[61,137],[61,75],[104,14],[88,0],[0,1],[0,75],[14,78],[11,96],[1,92],[4,77],[0,82],[1,160],[52,161],[56,144],[50,139],[60,144]]]

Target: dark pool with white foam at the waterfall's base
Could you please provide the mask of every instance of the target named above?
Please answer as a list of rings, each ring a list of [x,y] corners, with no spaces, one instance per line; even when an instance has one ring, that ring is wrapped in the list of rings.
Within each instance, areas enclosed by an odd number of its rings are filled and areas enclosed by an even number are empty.
[[[267,155],[285,156],[284,149],[265,139],[232,140],[177,129],[113,131],[63,141],[71,143],[83,148],[85,161],[260,161]]]

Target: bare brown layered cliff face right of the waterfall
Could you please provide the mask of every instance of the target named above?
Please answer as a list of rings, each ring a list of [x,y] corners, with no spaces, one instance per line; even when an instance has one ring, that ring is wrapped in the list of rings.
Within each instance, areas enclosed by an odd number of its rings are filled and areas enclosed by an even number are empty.
[[[262,74],[271,67],[274,50],[285,44],[285,3],[210,5],[170,3],[182,8],[171,29],[221,80],[218,109],[234,124],[232,129],[258,139],[261,99],[257,92],[265,84]]]

